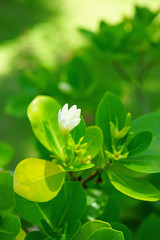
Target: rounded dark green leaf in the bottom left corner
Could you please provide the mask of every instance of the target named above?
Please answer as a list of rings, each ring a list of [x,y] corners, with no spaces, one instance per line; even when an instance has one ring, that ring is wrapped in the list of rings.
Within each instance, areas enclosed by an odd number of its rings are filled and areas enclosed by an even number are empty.
[[[17,216],[9,215],[2,219],[0,224],[0,239],[13,240],[19,234],[21,223]]]

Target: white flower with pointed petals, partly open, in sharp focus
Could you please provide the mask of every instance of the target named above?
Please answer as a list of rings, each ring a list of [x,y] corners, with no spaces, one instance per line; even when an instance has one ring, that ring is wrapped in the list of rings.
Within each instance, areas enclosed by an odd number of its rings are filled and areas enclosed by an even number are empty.
[[[81,109],[77,109],[76,105],[73,105],[70,109],[68,109],[68,104],[66,103],[62,110],[59,110],[58,124],[63,135],[69,133],[80,123],[80,115]]]

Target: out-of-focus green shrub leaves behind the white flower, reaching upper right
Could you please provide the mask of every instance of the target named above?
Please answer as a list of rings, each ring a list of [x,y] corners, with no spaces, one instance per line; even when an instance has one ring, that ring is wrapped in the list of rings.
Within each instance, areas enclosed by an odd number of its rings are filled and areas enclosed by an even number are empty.
[[[149,107],[157,109],[159,94],[155,90],[159,88],[155,87],[153,93],[144,90],[145,80],[153,69],[150,78],[152,82],[154,79],[155,86],[159,84],[156,68],[160,60],[158,15],[159,12],[136,7],[132,18],[125,18],[117,25],[102,21],[96,33],[81,29],[90,41],[89,46],[78,51],[64,65],[59,64],[54,71],[32,64],[19,72],[20,93],[9,99],[6,111],[24,117],[29,102],[38,94],[47,94],[61,103],[67,97],[70,104],[78,102],[83,111],[95,112],[106,90],[127,95],[135,115],[141,113],[139,106],[135,108],[133,104],[137,99],[142,112],[147,112]],[[132,94],[127,94],[126,83],[132,88]]]

